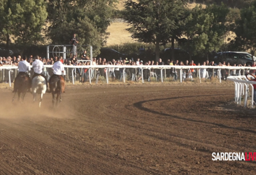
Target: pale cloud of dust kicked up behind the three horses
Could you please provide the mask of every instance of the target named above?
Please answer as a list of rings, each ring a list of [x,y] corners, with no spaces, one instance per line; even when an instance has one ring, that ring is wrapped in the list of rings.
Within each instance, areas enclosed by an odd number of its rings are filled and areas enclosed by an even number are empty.
[[[49,94],[44,95],[39,108],[39,99],[33,102],[31,94],[27,94],[24,102],[18,102],[18,96],[11,102],[13,94],[5,93],[1,96],[0,118],[73,118],[74,110],[63,102],[53,108]],[[39,98],[39,96],[38,96]]]

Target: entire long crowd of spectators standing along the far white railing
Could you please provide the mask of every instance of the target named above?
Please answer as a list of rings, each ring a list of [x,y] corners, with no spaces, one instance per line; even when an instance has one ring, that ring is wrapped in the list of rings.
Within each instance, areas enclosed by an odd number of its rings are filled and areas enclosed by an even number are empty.
[[[46,58],[39,58],[40,61],[42,61],[42,63],[44,63],[44,65],[53,65],[55,63],[55,61],[57,61],[57,57],[51,57],[50,59],[46,59]],[[0,65],[15,65],[17,66],[18,63],[21,60],[21,56],[18,55],[18,57],[0,57]],[[32,65],[33,62],[33,56],[30,55],[30,57],[27,59],[28,63],[30,63]],[[83,54],[81,55],[81,57],[79,57],[79,59],[77,59],[77,57],[73,56],[70,59],[65,59],[63,60],[63,58],[61,57],[61,62],[64,65],[90,65],[90,58],[86,55],[86,51],[83,52]],[[164,63],[162,61],[162,59],[159,59],[159,61],[142,61],[139,58],[137,58],[136,60],[133,59],[112,59],[111,61],[107,61],[106,59],[102,59],[102,58],[93,58],[92,59],[92,65],[209,65],[209,66],[216,66],[216,69],[206,69],[206,68],[201,68],[201,69],[183,69],[182,74],[180,73],[180,71],[178,71],[175,68],[172,69],[166,69],[164,71],[164,76],[165,77],[172,77],[172,79],[174,81],[176,81],[178,79],[178,77],[182,77],[183,79],[193,79],[195,77],[198,77],[200,75],[200,77],[202,79],[211,79],[214,76],[217,77],[222,77],[222,79],[226,79],[226,77],[228,75],[237,75],[238,71],[236,71],[236,69],[222,69],[221,73],[219,73],[218,67],[244,67],[247,65],[230,65],[230,63],[214,63],[214,61],[203,61],[202,63],[197,63],[195,64],[193,61],[185,61],[183,63],[183,61],[179,61],[179,60],[175,60],[172,61],[170,59],[168,59],[166,61],[166,63]],[[256,66],[256,63],[254,62],[253,65],[251,65],[252,67]],[[46,71],[46,70],[45,70]],[[119,79],[122,80],[123,77],[125,76],[127,79],[130,79],[131,81],[135,81],[135,80],[139,80],[142,78],[143,79],[148,79],[148,81],[151,81],[152,77],[155,77],[156,79],[160,78],[160,69],[143,69],[143,72],[141,69],[135,69],[135,68],[129,68],[129,69],[125,69],[125,71],[123,71],[123,68],[119,67],[119,68],[110,68],[110,69],[92,69],[90,76],[96,77],[98,76],[104,76],[106,77],[106,71],[108,71],[108,76],[110,77],[110,79]],[[86,81],[88,79],[89,76],[89,71],[88,69],[76,69],[75,70],[75,74],[78,74],[80,77],[82,77],[82,81]],[[251,70],[250,73],[255,73],[255,70]]]

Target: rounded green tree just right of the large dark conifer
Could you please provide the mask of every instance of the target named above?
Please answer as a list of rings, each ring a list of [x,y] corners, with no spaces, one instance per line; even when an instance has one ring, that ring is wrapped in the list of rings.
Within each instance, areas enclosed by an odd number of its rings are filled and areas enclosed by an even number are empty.
[[[228,28],[226,16],[228,8],[222,4],[210,5],[203,9],[195,7],[186,17],[183,38],[179,44],[191,55],[203,53],[208,59],[208,54],[213,50],[219,50],[222,46]]]

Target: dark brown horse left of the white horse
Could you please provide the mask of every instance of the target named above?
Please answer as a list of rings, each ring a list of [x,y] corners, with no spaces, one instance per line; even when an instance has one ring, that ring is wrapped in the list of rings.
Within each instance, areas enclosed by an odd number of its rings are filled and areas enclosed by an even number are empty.
[[[20,73],[18,77],[15,78],[14,81],[14,96],[12,101],[15,98],[16,93],[18,92],[18,101],[20,101],[20,94],[22,94],[22,102],[24,101],[24,97],[26,92],[31,87],[31,79],[26,75],[26,73]]]

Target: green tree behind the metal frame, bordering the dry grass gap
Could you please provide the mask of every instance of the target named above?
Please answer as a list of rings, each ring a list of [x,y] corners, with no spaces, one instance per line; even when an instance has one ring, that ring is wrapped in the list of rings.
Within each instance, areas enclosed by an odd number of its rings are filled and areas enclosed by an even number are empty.
[[[53,44],[68,44],[75,33],[80,45],[92,45],[94,55],[106,42],[116,0],[49,0],[49,36]]]

